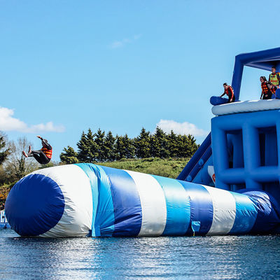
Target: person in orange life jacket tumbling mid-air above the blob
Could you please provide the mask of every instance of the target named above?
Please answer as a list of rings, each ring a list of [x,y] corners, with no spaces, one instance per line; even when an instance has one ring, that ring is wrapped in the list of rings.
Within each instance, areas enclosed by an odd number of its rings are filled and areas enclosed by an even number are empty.
[[[25,158],[33,157],[35,160],[37,160],[38,163],[41,165],[46,165],[48,162],[50,162],[52,158],[52,146],[48,144],[47,139],[43,139],[41,136],[37,136],[38,139],[41,139],[42,141],[42,148],[38,151],[32,151],[31,146],[29,146],[28,153],[25,153],[25,151],[22,151],[22,155],[25,156]]]

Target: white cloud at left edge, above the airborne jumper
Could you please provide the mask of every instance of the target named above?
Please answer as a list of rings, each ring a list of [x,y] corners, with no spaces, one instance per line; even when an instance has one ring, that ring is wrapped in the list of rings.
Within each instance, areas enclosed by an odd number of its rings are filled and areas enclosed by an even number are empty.
[[[27,133],[36,132],[64,132],[63,125],[54,125],[52,122],[39,123],[38,125],[27,125],[22,120],[14,118],[14,110],[0,107],[0,130],[2,131],[18,131]]]

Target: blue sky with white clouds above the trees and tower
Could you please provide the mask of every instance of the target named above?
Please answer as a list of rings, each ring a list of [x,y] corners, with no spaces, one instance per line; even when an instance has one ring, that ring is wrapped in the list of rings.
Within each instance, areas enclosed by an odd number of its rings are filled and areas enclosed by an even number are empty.
[[[40,147],[76,148],[83,130],[135,137],[157,124],[210,130],[211,95],[235,55],[279,47],[280,3],[264,1],[0,0],[0,130]],[[273,20],[269,17],[275,17]],[[241,99],[258,99],[245,69]],[[162,121],[161,121],[162,120]]]

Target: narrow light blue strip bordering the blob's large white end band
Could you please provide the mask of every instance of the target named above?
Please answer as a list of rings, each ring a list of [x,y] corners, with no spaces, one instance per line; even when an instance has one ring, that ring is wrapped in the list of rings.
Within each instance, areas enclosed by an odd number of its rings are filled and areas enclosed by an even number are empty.
[[[98,182],[97,182],[97,167],[96,165],[88,163],[78,163],[78,167],[83,169],[83,172],[90,179],[90,187],[92,189],[92,237],[96,236],[95,232],[95,218],[97,214],[97,205],[98,205]]]

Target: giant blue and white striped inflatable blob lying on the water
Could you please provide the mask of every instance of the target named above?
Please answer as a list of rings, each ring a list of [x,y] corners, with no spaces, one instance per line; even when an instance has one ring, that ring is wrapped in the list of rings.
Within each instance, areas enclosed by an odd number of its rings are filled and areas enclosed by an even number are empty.
[[[41,169],[10,190],[6,216],[22,236],[137,237],[270,232],[276,202],[93,164]]]

